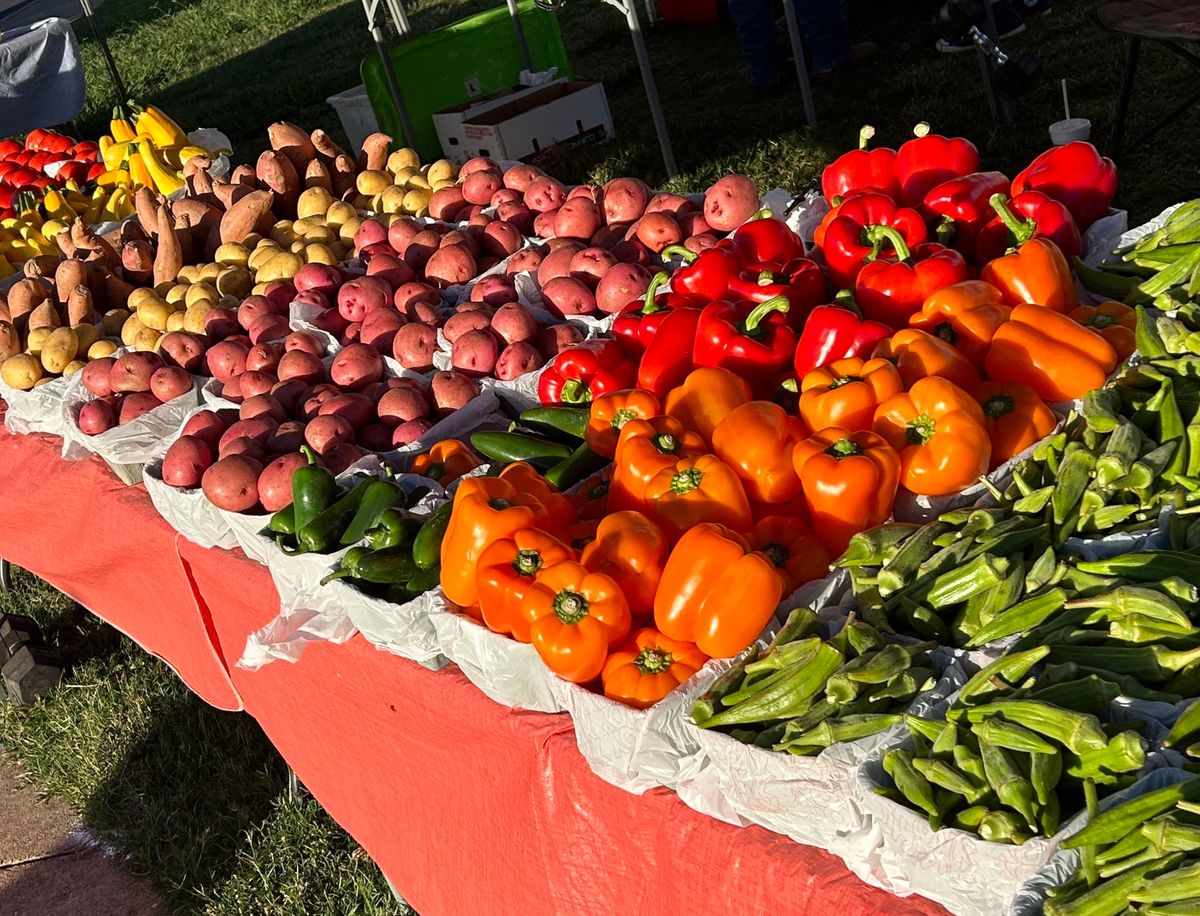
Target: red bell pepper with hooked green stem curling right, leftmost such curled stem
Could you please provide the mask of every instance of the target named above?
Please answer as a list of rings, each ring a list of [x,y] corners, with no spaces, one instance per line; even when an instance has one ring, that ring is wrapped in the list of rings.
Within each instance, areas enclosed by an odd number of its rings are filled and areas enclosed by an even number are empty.
[[[727,369],[756,393],[768,390],[796,352],[796,331],[786,323],[785,297],[766,303],[713,303],[696,327],[692,363]],[[782,321],[772,321],[779,315]]]

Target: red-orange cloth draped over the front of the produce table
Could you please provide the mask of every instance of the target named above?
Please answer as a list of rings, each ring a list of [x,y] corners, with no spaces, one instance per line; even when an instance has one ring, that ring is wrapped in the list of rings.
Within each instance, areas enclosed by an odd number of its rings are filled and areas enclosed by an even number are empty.
[[[569,717],[502,707],[455,666],[428,671],[356,636],[314,643],[299,664],[232,667],[277,612],[265,568],[178,537],[142,487],[58,449],[0,431],[0,555],[166,659],[206,701],[244,705],[420,912],[944,912],[674,792],[608,785]]]

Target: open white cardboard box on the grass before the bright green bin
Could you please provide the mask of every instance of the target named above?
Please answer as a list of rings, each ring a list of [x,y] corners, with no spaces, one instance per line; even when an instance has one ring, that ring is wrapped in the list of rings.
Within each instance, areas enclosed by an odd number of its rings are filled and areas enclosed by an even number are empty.
[[[538,160],[613,136],[604,85],[565,79],[457,106],[433,115],[433,122],[443,152],[460,163],[473,156]]]

